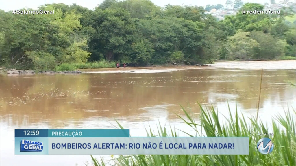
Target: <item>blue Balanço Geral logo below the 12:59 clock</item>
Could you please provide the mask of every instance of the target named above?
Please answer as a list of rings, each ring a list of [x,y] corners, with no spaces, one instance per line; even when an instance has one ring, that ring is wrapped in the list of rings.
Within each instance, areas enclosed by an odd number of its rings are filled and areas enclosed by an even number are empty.
[[[43,143],[22,139],[20,141],[20,152],[42,152]]]

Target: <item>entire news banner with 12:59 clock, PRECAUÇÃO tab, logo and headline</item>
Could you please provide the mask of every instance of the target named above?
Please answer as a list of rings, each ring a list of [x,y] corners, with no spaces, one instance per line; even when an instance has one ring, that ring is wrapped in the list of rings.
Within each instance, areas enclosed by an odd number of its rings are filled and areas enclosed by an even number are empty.
[[[15,155],[248,155],[249,137],[130,137],[129,129],[15,129]]]

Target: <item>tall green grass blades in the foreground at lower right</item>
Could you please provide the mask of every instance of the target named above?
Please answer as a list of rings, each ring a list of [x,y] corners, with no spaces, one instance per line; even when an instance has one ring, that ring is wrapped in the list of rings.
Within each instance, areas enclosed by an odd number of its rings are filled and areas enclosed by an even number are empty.
[[[274,142],[274,150],[267,155],[260,154],[256,148],[257,141],[262,137],[258,136],[258,132],[270,133],[267,124],[257,121],[256,117],[251,117],[251,123],[247,123],[243,115],[236,113],[233,115],[229,109],[229,117],[227,122],[222,123],[218,111],[214,110],[213,106],[209,109],[201,108],[200,124],[192,118],[192,116],[184,110],[186,117],[181,117],[184,123],[193,128],[195,135],[189,136],[248,136],[249,141],[249,155],[120,155],[118,158],[112,159],[114,164],[123,166],[204,166],[204,165],[219,165],[219,166],[246,166],[246,165],[264,165],[264,166],[284,166],[296,164],[296,136],[295,136],[295,110],[294,115],[290,111],[285,111],[285,115],[277,115],[272,120],[272,130],[274,133],[270,139]],[[229,108],[229,107],[228,107]],[[224,115],[223,115],[224,116]],[[188,120],[186,120],[188,119]],[[117,122],[118,123],[118,122]],[[120,128],[123,128],[119,123]],[[203,133],[200,133],[202,128]],[[271,127],[271,126],[270,126]],[[147,136],[178,136],[173,128],[157,127],[158,134],[155,135],[150,128],[147,131]],[[202,132],[201,131],[201,132]],[[186,133],[187,134],[187,133]],[[264,136],[268,137],[268,136]],[[102,160],[98,161],[93,156],[92,160],[95,166],[106,165]]]

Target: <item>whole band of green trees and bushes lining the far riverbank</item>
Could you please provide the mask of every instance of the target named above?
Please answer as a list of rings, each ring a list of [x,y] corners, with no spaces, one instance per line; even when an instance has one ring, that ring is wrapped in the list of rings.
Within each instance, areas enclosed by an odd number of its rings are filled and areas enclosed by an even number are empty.
[[[39,9],[54,14],[0,10],[0,66],[64,71],[117,62],[195,65],[219,59],[295,59],[296,54],[295,12],[285,8],[279,15],[238,12],[222,21],[201,6],[160,8],[148,0],[104,0],[94,10],[76,4]],[[247,3],[241,9],[264,6]]]

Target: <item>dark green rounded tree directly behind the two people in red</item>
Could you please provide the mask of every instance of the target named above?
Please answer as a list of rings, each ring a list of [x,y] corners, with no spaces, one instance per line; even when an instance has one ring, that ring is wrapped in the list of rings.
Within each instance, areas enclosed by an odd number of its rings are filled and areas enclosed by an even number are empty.
[[[93,60],[105,58],[119,60],[131,53],[136,38],[136,28],[130,14],[120,8],[96,9],[94,24],[96,33],[91,40]]]

